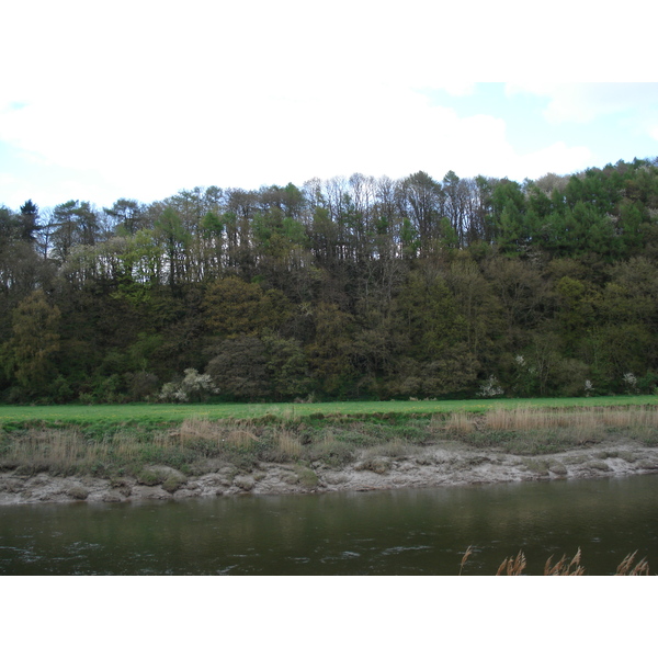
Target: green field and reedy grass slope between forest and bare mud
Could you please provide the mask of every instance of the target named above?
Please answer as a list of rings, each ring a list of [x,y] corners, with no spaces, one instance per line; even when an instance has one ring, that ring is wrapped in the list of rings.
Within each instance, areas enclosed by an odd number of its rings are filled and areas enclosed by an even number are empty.
[[[582,412],[567,412],[576,409]],[[486,416],[475,420],[464,411]],[[214,422],[224,419],[236,422]],[[365,450],[363,468],[381,473],[389,457],[446,439],[517,455],[551,455],[614,436],[657,445],[658,396],[0,407],[0,470],[140,477],[149,464],[192,474],[206,473],[208,460],[218,460],[250,473],[259,462],[341,467]]]

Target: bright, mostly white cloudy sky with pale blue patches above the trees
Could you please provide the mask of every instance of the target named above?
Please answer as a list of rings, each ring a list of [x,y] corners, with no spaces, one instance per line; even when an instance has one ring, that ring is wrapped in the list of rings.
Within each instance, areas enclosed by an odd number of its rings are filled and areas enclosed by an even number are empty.
[[[658,156],[653,22],[636,0],[595,14],[578,0],[12,4],[13,209],[355,172],[522,181]]]

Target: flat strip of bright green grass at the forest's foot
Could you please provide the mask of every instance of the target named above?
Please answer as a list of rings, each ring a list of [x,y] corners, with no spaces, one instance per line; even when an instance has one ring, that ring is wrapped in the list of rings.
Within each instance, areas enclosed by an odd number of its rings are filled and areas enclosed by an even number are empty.
[[[188,418],[256,419],[273,416],[286,420],[318,415],[325,417],[364,417],[394,413],[400,416],[432,416],[466,411],[485,413],[495,409],[569,407],[626,407],[658,405],[658,396],[609,396],[600,398],[535,398],[490,400],[405,400],[372,402],[317,404],[222,404],[222,405],[61,405],[49,407],[0,407],[0,426],[42,421],[46,423],[171,423]]]

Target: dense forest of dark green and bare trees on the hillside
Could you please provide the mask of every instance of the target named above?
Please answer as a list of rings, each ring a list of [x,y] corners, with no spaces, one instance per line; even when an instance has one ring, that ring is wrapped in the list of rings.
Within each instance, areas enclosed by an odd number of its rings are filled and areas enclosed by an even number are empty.
[[[657,339],[658,158],[0,207],[4,402],[653,393]]]

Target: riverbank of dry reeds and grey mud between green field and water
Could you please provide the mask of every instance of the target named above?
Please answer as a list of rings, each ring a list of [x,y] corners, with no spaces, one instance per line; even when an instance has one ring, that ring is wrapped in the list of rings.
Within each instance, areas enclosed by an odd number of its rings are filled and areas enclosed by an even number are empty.
[[[0,430],[0,504],[452,487],[658,472],[658,408],[188,418]]]

